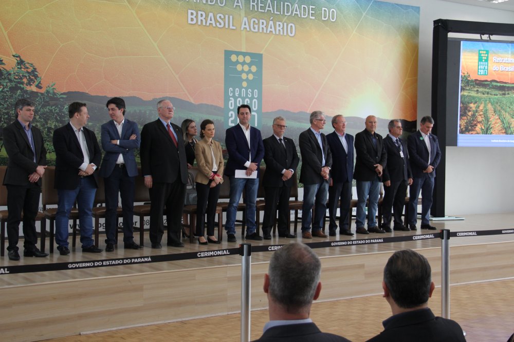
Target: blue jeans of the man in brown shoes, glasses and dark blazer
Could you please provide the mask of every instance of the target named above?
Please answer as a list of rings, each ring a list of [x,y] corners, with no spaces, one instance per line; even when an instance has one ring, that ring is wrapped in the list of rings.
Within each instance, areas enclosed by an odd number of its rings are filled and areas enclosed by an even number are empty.
[[[328,181],[318,184],[303,185],[302,206],[302,233],[310,231],[313,224],[313,232],[321,230],[326,214],[326,199],[328,197]],[[312,208],[314,206],[314,219]]]

